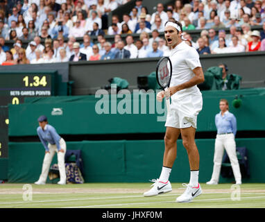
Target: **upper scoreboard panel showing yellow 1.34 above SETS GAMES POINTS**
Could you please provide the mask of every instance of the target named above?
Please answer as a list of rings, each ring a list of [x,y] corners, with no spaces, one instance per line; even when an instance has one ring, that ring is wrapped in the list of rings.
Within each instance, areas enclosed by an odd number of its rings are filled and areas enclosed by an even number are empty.
[[[25,96],[53,96],[53,74],[0,74],[0,105],[23,103]]]

